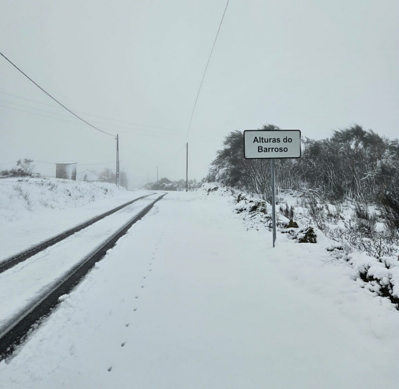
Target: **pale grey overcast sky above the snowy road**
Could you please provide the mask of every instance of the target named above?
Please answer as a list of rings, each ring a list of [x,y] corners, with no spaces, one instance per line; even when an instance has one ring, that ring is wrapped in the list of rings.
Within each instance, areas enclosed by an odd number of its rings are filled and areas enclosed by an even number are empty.
[[[230,0],[188,133],[225,5],[0,0],[0,51],[119,134],[132,188],[155,181],[157,166],[160,178],[185,178],[187,137],[189,178],[201,179],[234,129],[273,123],[320,139],[358,123],[399,136],[398,0]],[[49,162],[35,163],[43,175],[55,162],[114,169],[83,165],[113,161],[112,136],[56,107],[2,57],[0,73],[0,164]]]

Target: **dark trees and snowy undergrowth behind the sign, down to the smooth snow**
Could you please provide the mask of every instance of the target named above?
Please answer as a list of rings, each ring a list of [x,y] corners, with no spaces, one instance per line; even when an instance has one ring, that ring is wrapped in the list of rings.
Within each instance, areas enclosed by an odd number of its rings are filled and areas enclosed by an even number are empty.
[[[304,137],[301,143],[300,159],[275,160],[278,228],[298,242],[323,236],[333,259],[354,261],[351,253],[367,255],[370,260],[356,265],[362,286],[399,308],[398,139],[355,124],[325,139]],[[210,165],[207,182],[231,188],[235,211],[243,212],[245,220],[263,213],[260,219],[270,228],[270,160],[244,159],[243,151],[242,132],[230,132]],[[316,234],[305,239],[309,227]]]

